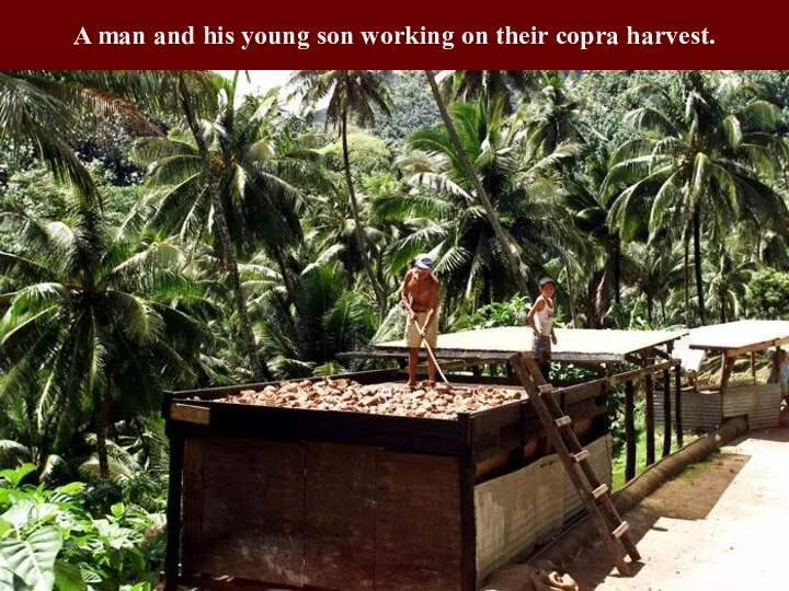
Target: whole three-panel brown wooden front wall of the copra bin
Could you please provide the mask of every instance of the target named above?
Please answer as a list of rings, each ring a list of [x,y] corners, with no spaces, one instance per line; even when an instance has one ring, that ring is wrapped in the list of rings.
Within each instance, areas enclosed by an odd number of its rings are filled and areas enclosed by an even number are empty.
[[[459,462],[192,438],[184,573],[336,591],[461,591]]]

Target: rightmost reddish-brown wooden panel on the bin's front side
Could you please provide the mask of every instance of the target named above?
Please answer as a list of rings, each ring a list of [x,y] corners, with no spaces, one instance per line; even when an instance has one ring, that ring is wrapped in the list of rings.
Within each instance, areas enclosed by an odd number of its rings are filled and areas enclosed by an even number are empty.
[[[459,462],[379,451],[376,591],[460,591]]]

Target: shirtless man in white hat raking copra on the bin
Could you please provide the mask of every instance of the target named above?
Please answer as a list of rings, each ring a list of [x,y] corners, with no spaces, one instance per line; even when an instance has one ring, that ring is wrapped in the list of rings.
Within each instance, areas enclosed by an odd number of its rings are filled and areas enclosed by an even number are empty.
[[[421,254],[405,274],[402,305],[408,314],[405,343],[409,347],[409,386],[416,385],[419,348],[424,338],[435,349],[438,341],[438,278],[433,274],[433,259]],[[419,326],[418,326],[419,325]],[[427,380],[435,384],[436,367],[427,356]]]

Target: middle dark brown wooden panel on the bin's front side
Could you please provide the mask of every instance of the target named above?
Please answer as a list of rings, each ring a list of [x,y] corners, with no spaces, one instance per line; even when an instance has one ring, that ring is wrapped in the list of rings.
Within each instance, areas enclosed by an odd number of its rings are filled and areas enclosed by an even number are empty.
[[[305,583],[375,589],[375,450],[308,443]]]

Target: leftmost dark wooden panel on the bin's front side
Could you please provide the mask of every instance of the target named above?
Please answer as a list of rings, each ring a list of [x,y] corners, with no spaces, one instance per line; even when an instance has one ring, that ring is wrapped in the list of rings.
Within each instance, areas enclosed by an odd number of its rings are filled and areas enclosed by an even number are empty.
[[[304,447],[209,438],[204,457],[203,545],[193,553],[195,568],[304,584]]]

